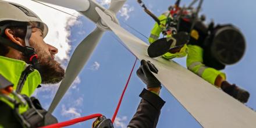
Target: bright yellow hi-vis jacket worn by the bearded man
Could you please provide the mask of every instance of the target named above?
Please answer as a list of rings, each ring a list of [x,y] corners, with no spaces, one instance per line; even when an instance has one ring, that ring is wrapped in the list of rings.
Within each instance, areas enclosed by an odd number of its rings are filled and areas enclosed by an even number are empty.
[[[27,67],[27,63],[24,61],[19,61],[17,59],[11,59],[6,58],[4,56],[0,56],[0,74],[5,77],[5,79],[9,80],[11,83],[13,83],[13,89],[16,90],[17,84],[19,83],[20,77],[22,76],[23,70],[25,70]],[[24,82],[24,85],[22,87],[22,90],[20,91],[20,94],[27,95],[28,97],[31,96],[31,94],[34,93],[35,89],[38,87],[38,85],[41,84],[41,76],[40,73],[37,70],[33,70],[28,76],[26,81]],[[11,98],[13,98],[13,95],[9,95]],[[8,104],[11,108],[14,108],[14,105],[9,102],[8,100],[1,98],[0,100]],[[28,106],[19,106],[19,113],[23,113],[27,111],[29,107]]]

